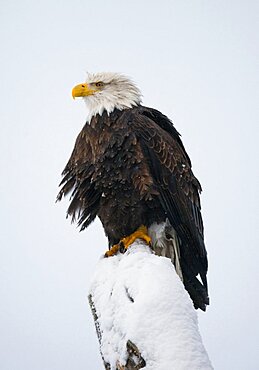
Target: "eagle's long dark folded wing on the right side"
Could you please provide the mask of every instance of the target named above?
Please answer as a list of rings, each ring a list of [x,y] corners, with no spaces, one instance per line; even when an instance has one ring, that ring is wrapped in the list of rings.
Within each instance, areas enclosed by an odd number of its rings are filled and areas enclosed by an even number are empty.
[[[180,136],[167,117],[150,108],[140,109],[132,122],[146,153],[161,206],[180,237],[185,276],[187,280],[193,280],[200,274],[207,291],[208,264],[199,198],[201,186],[193,175]]]

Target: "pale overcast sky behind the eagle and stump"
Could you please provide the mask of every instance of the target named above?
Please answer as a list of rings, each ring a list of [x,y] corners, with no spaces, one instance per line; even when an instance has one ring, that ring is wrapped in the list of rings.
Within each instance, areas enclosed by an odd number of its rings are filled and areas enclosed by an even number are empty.
[[[204,189],[203,341],[215,369],[258,369],[258,1],[0,7],[1,370],[102,368],[87,292],[106,239],[55,204],[87,114],[71,88],[86,71],[131,76],[182,134]]]

